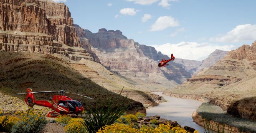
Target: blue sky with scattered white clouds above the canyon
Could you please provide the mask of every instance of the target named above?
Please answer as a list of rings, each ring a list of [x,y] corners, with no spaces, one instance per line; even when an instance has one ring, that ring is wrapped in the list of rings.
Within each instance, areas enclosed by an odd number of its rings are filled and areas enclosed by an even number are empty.
[[[93,33],[120,30],[128,39],[176,58],[202,61],[256,40],[256,0],[53,0],[74,24]]]

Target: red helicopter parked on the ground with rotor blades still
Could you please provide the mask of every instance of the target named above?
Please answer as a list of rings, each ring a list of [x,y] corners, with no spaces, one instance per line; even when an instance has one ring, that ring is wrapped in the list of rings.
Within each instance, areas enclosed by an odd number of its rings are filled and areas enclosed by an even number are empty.
[[[61,95],[53,95],[53,98],[50,98],[49,101],[47,100],[36,101],[33,94],[33,93],[53,93],[53,92],[61,93]],[[54,112],[57,112],[60,114],[72,114],[72,113],[78,114],[84,110],[84,107],[79,101],[73,100],[68,96],[63,96],[64,93],[70,93],[70,92],[65,92],[63,90],[33,92],[31,88],[27,88],[27,93],[19,93],[19,94],[27,94],[27,97],[25,98],[25,103],[27,103],[28,106],[32,108],[35,104],[39,106],[52,108],[54,111],[48,113],[47,117],[51,117],[51,114],[53,114]],[[75,93],[70,93],[70,94],[75,94]],[[83,96],[80,94],[76,94],[76,95]],[[84,97],[92,99],[88,96],[84,96]]]

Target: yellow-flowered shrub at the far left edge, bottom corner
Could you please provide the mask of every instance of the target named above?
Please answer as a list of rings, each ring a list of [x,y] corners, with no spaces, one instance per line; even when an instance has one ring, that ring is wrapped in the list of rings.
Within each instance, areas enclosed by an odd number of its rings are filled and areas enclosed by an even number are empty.
[[[16,116],[0,116],[0,132],[10,132],[18,120]]]

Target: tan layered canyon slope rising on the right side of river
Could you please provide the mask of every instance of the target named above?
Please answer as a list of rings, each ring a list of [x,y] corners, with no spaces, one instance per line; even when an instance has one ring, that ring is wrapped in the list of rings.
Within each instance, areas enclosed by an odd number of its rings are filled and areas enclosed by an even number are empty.
[[[244,118],[252,118],[256,89],[256,45],[243,45],[228,53],[226,57],[202,71],[197,76],[187,79],[177,86],[172,93],[200,94],[210,103],[221,106],[223,110]],[[237,102],[235,102],[237,101]],[[243,103],[248,105],[244,108]],[[232,110],[232,111],[231,111]]]

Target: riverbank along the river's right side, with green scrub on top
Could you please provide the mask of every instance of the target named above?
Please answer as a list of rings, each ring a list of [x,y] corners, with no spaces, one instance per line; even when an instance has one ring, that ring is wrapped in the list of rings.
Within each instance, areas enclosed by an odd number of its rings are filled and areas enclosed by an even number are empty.
[[[208,127],[211,127],[213,131],[223,130],[223,125],[225,126],[225,132],[228,133],[256,133],[256,122],[253,122],[245,118],[236,118],[226,114],[226,111],[223,111],[223,108],[220,106],[215,106],[211,103],[208,103],[208,100],[202,95],[196,94],[176,94],[172,92],[164,92],[163,94],[168,96],[174,96],[183,99],[193,99],[198,101],[204,101],[197,110],[193,112],[193,121],[200,126],[206,126],[206,121],[204,125],[203,118],[209,120]]]

